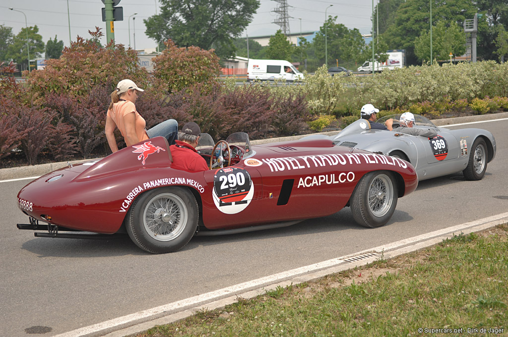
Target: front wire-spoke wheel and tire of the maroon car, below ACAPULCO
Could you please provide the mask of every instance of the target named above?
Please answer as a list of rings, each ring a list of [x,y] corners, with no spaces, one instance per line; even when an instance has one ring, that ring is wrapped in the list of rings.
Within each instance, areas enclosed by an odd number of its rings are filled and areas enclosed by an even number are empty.
[[[395,212],[397,198],[397,182],[392,173],[369,172],[360,179],[351,195],[353,218],[365,227],[383,226]]]

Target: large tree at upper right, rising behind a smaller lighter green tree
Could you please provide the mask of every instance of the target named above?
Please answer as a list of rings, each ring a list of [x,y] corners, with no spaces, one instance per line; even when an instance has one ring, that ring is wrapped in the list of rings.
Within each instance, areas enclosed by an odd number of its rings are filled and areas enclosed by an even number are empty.
[[[464,19],[473,18],[478,9],[470,0],[431,0],[432,24],[439,21],[455,22],[462,25]],[[393,14],[394,22],[383,34],[392,49],[405,49],[408,64],[418,64],[415,55],[415,40],[421,32],[430,27],[429,0],[412,0],[400,4]],[[432,33],[434,39],[434,33]]]

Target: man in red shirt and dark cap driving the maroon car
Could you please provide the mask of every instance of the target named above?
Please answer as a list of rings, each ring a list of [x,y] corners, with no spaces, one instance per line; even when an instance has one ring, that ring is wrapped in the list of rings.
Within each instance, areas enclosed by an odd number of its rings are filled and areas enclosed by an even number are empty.
[[[171,168],[187,172],[207,171],[206,160],[198,154],[198,146],[201,128],[195,122],[187,122],[178,132],[176,144],[169,147],[173,162]]]

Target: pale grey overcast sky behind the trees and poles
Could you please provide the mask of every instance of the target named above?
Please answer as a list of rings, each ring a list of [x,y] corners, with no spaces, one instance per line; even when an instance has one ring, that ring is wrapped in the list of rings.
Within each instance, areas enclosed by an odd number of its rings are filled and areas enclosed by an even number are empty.
[[[370,16],[372,12],[372,0],[356,0],[355,2],[321,1],[321,0],[287,0],[290,19],[290,31],[299,33],[319,30],[327,14],[337,16],[337,23],[342,23],[348,28],[358,28],[361,33],[370,33],[372,23]],[[14,8],[24,12],[28,26],[37,25],[44,43],[49,39],[62,40],[69,46],[69,20],[67,15],[67,4],[69,4],[71,21],[71,38],[73,41],[79,35],[88,38],[88,30],[95,30],[95,26],[103,28],[105,33],[105,22],[102,21],[101,8],[104,7],[101,0],[0,0],[0,24],[13,27],[15,35],[25,26],[25,18],[22,13],[10,11]],[[375,4],[375,2],[374,2]],[[129,29],[131,35],[131,47],[136,49],[154,48],[155,42],[145,36],[145,25],[143,19],[158,13],[159,4],[157,0],[121,0],[118,6],[123,7],[123,21],[115,22],[115,42],[129,46]],[[272,23],[277,15],[272,11],[279,4],[272,0],[261,0],[261,6],[254,19],[242,33],[242,37],[273,35],[279,26]],[[133,15],[138,13],[136,15]],[[131,16],[132,15],[132,16]],[[128,17],[130,16],[130,20]],[[135,19],[134,19],[135,18]],[[300,20],[301,19],[301,20]],[[301,22],[301,26],[300,26]],[[130,23],[130,24],[128,24]],[[103,38],[103,43],[106,38]],[[44,55],[42,55],[44,57]]]

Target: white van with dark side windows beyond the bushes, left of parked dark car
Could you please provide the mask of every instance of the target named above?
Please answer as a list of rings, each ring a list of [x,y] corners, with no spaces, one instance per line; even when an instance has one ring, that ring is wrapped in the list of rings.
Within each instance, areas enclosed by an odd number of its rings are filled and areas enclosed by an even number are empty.
[[[286,60],[249,59],[247,81],[274,81],[282,79],[288,82],[303,80],[303,74]]]

